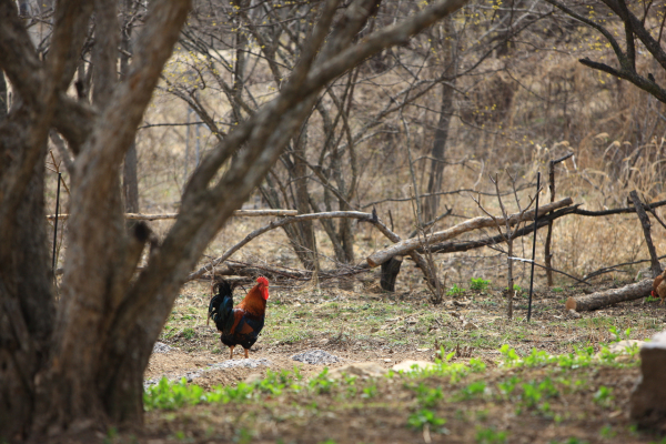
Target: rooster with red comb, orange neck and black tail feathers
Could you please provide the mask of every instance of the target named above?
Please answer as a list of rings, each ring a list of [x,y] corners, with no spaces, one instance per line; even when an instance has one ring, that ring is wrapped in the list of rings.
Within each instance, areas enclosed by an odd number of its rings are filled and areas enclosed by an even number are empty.
[[[256,342],[259,333],[264,326],[266,302],[269,301],[269,280],[264,276],[256,279],[245,299],[235,307],[233,306],[233,289],[230,283],[221,280],[213,286],[216,292],[209,304],[209,320],[215,322],[218,331],[222,333],[220,340],[230,349],[229,359],[233,359],[233,349],[242,345],[245,359],[249,357],[250,347]]]

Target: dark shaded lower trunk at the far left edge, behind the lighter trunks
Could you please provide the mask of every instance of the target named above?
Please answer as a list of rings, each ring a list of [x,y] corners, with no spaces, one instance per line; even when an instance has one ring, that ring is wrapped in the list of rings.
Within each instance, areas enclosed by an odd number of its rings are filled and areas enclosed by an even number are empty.
[[[29,434],[36,375],[49,356],[54,303],[43,203],[43,173],[36,171],[12,226],[3,226],[14,234],[0,246],[0,441]]]

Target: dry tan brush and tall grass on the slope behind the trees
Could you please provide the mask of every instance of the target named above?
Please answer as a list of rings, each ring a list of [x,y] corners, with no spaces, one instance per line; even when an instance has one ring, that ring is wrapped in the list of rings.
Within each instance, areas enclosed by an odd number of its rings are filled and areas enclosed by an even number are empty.
[[[226,9],[221,7],[216,12],[220,16],[215,16],[214,9],[206,9],[206,4],[196,3],[188,29],[205,28],[220,36],[235,36],[234,23],[223,20],[229,6]],[[589,4],[578,3],[577,8],[594,10]],[[273,2],[273,7],[280,6]],[[396,17],[417,8],[415,3],[385,2],[374,26],[391,24]],[[654,27],[658,27],[665,8],[654,7],[648,22],[652,20]],[[597,13],[603,10],[598,9]],[[507,21],[511,26],[494,28],[502,14],[514,14]],[[624,32],[619,22],[607,22],[606,26],[618,34]],[[454,32],[451,34],[446,30]],[[515,33],[504,38],[509,31]],[[221,57],[231,61],[235,60],[232,37],[226,39],[231,42],[226,46],[222,37],[216,48]],[[258,43],[251,36],[248,44],[250,52],[258,52]],[[446,56],[445,48],[452,46],[455,56]],[[640,47],[638,53],[642,54]],[[278,59],[290,65],[287,56]],[[454,93],[445,148],[447,164],[441,191],[448,193],[442,196],[440,204],[440,213],[446,211],[445,205],[452,213],[437,222],[435,231],[483,215],[472,196],[477,195],[475,192],[494,192],[488,174],[498,174],[504,192],[512,191],[507,172],[515,176],[521,205],[526,205],[535,193],[536,173],[542,173],[542,184],[545,184],[547,162],[568,152],[575,155],[556,168],[556,199],[571,196],[587,210],[627,206],[632,190],[637,190],[647,202],[666,199],[663,188],[664,104],[625,81],[582,65],[578,59],[586,57],[615,63],[610,48],[598,33],[554,13],[551,7],[517,0],[504,3],[475,0],[450,23],[441,23],[410,44],[367,60],[332,87],[340,97],[350,82],[353,83],[354,95],[347,113],[352,132],[361,131],[390,103],[387,98],[398,91],[412,88],[411,94],[417,98],[381,118],[366,130],[364,138],[356,141],[360,175],[357,192],[350,202],[353,209],[370,212],[376,208],[384,222],[390,224],[392,219],[394,231],[403,238],[414,230],[415,205],[410,198],[426,192],[430,155],[440,120],[443,87],[436,79],[452,69],[460,77],[447,83],[454,88]],[[221,60],[213,63],[220,68],[218,74],[233,83],[231,72],[224,70]],[[203,157],[216,143],[215,134],[205,124],[183,124],[199,118],[178,91],[199,94],[198,99],[222,129],[233,125],[230,103],[213,81],[210,69],[211,64],[201,53],[179,46],[164,72],[162,87],[145,114],[145,125],[137,140],[142,213],[178,211],[188,175],[196,165],[195,150],[199,149],[199,155]],[[638,58],[638,71],[652,72],[657,83],[666,83],[664,72],[649,59]],[[245,87],[245,98],[258,105],[274,95],[275,83],[263,59],[249,56]],[[322,103],[332,107],[326,94]],[[164,123],[178,125],[155,125]],[[336,134],[342,139],[341,143],[345,143],[342,125]],[[305,155],[316,163],[326,134],[322,119],[315,112],[309,121],[306,138]],[[408,150],[412,151],[417,191],[412,186]],[[276,165],[274,174],[289,181],[282,168]],[[343,157],[340,169],[343,174],[351,174],[349,157]],[[65,181],[69,181],[67,174]],[[49,208],[54,209],[56,176],[50,182],[48,202]],[[323,201],[323,186],[313,174],[307,175],[307,189],[316,202]],[[503,199],[509,212],[517,210],[513,193]],[[494,196],[481,195],[481,201],[487,211],[500,214]],[[541,202],[546,201],[549,201],[547,189],[541,194]],[[61,212],[67,212],[64,190],[61,202]],[[265,206],[260,193],[245,204],[250,209]],[[657,210],[657,214],[660,216],[663,211]],[[232,220],[210,245],[203,261],[220,255],[248,232],[265,223],[268,221],[262,218]],[[163,234],[170,222],[151,222],[151,225]],[[67,223],[60,228],[67,230]],[[333,269],[337,264],[331,242],[321,224],[315,223],[314,228],[322,268]],[[389,244],[369,224],[354,222],[353,233],[356,263]],[[487,234],[494,235],[496,231],[487,230]],[[542,229],[537,235],[539,263],[544,262],[545,234],[546,230]],[[482,233],[474,232],[468,238],[480,235]],[[657,253],[664,253],[664,228],[656,223],[653,224],[653,239]],[[518,240],[516,255],[529,256],[531,245],[532,236]],[[65,248],[60,244],[60,258]],[[555,222],[553,249],[554,266],[578,278],[604,266],[647,259],[635,214],[559,219]],[[253,241],[233,259],[301,268],[287,238],[280,230]],[[447,273],[447,286],[462,285],[470,278],[501,280],[506,273],[505,258],[492,249],[438,254],[435,262],[441,275]],[[633,278],[636,270],[644,266],[646,264],[627,266],[605,278]],[[518,266],[518,285],[527,285],[527,272],[525,265]],[[537,271],[536,276],[537,283],[545,283],[543,270]],[[357,279],[359,282],[377,282],[376,276],[369,278],[367,274]],[[573,282],[557,274],[555,279],[558,284]],[[412,265],[403,265],[398,289],[420,285],[423,285],[422,274]]]

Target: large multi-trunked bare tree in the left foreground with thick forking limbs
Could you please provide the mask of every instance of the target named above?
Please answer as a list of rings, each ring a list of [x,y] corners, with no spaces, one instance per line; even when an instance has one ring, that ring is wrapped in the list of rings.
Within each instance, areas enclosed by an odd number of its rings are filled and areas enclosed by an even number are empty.
[[[319,4],[316,24],[306,29],[280,92],[210,150],[185,186],[179,218],[158,243],[147,225],[125,226],[120,173],[190,2],[149,2],[122,82],[112,62],[118,28],[95,28],[99,62],[90,105],[67,91],[93,11],[107,13],[115,1],[59,2],[42,60],[16,2],[0,0],[0,69],[17,97],[0,123],[0,436],[18,441],[109,422],[141,423],[143,371],[179,289],[302,128],[322,89],[373,54],[405,44],[464,1],[434,2],[356,39],[380,4]],[[50,129],[64,138],[72,157],[69,249],[58,302],[43,202]],[[147,244],[148,263],[137,271]]]

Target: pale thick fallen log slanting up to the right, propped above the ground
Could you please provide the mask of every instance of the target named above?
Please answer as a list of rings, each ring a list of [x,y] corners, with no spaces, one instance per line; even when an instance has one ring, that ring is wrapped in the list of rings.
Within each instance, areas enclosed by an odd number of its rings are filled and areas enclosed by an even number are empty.
[[[563,206],[568,206],[572,203],[573,203],[573,201],[571,198],[566,198],[566,199],[563,199],[563,200],[554,202],[554,203],[548,203],[538,209],[538,214],[544,215],[545,213],[547,213],[549,211],[557,210]],[[508,216],[508,223],[509,223],[509,225],[513,226],[518,222],[528,221],[528,220],[533,220],[533,219],[534,219],[534,210],[531,210],[531,211],[524,212],[522,216],[519,213],[511,214]],[[483,229],[483,228],[488,228],[488,226],[496,226],[497,224],[504,225],[505,224],[504,218],[480,216],[480,218],[470,219],[468,221],[458,223],[457,225],[454,225],[447,230],[438,231],[436,233],[428,235],[427,242],[434,243],[434,242],[446,241],[448,239],[456,238],[456,236],[458,236],[463,233],[466,233],[468,231],[472,231],[472,230],[477,230],[477,229]],[[410,252],[422,246],[422,243],[423,243],[423,240],[421,240],[421,239],[407,239],[405,241],[398,242],[398,243],[387,248],[386,250],[377,251],[377,252],[371,254],[370,256],[367,256],[367,263],[370,264],[371,268],[379,266],[379,265],[383,264],[384,262],[389,261],[393,256],[408,254]]]

